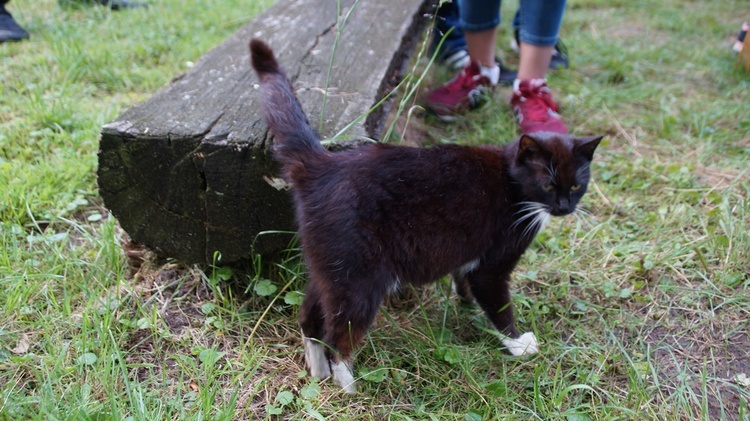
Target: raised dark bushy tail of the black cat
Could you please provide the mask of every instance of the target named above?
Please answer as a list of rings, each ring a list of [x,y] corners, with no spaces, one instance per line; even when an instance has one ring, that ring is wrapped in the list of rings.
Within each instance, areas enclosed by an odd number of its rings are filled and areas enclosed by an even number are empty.
[[[250,40],[250,61],[260,80],[263,114],[275,136],[274,157],[294,181],[295,173],[303,170],[306,162],[320,158],[326,150],[271,47],[259,39]]]

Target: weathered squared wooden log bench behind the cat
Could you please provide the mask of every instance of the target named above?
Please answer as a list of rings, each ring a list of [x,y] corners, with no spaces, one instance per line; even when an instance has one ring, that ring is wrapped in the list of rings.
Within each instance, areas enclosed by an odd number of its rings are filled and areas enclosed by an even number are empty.
[[[377,139],[392,101],[376,104],[397,83],[431,4],[279,1],[102,128],[105,206],[134,241],[186,263],[283,250],[291,235],[279,231],[294,230],[293,209],[270,156],[250,38],[274,48],[323,138],[372,110],[346,134]]]

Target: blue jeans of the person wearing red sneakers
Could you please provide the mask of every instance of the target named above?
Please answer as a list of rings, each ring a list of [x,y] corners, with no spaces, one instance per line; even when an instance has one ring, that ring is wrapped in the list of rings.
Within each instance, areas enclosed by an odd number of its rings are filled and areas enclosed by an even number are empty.
[[[480,32],[500,24],[502,0],[453,0],[458,2],[458,24],[464,32]],[[557,43],[566,0],[519,0],[513,27],[521,42],[539,47]]]

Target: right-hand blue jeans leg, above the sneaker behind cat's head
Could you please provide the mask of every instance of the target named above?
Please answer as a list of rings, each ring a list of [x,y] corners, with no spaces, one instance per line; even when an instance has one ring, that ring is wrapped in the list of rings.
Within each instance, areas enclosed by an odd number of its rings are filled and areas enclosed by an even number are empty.
[[[566,0],[520,0],[518,8],[521,42],[539,47],[557,43]]]

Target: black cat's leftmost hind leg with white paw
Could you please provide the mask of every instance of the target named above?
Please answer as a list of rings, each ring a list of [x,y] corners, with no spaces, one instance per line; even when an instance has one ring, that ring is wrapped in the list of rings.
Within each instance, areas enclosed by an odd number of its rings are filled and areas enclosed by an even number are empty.
[[[299,325],[302,329],[302,344],[305,347],[305,362],[310,375],[325,379],[331,376],[331,367],[323,342],[325,318],[321,302],[321,288],[311,279],[305,290],[305,298],[299,310]]]

